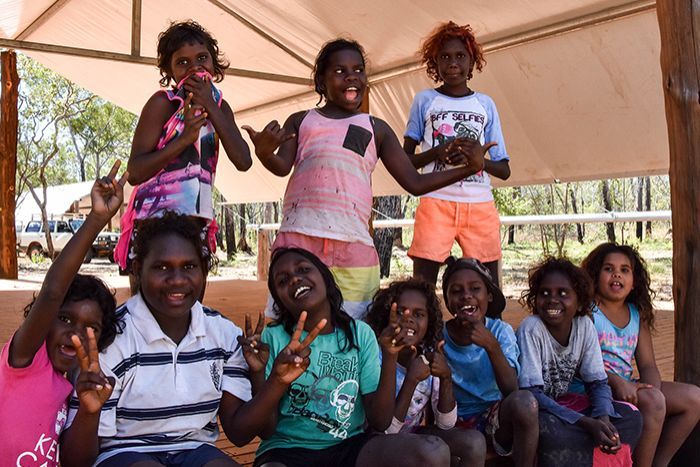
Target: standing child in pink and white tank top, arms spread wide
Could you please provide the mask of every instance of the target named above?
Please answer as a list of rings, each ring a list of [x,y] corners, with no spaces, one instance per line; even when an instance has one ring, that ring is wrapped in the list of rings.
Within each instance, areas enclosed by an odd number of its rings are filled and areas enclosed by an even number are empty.
[[[283,177],[294,168],[273,249],[300,247],[321,258],[335,275],[345,309],[360,317],[379,288],[379,259],[369,234],[377,160],[417,195],[480,171],[493,143],[470,143],[463,167],[421,175],[389,125],[360,111],[367,88],[360,44],[347,39],[326,43],[316,57],[313,79],[325,99],[321,107],[292,114],[282,127],[272,121],[262,131],[243,128],[268,170]]]

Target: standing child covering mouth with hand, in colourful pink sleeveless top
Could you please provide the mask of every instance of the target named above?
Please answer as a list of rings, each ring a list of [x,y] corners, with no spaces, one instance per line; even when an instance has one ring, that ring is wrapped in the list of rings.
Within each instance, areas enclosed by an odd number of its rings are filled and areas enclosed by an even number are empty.
[[[136,127],[128,167],[135,189],[115,250],[122,269],[129,269],[138,222],[166,211],[197,219],[206,244],[215,250],[212,187],[219,139],[238,170],[252,164],[233,111],[213,84],[224,78],[228,66],[216,39],[194,21],[173,23],[158,37],[160,84],[172,80],[175,86],[151,96]]]

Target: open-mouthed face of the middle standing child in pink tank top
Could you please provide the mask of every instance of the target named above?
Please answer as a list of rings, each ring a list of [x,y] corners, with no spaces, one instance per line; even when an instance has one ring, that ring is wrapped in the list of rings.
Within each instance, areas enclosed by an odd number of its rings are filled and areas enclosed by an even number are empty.
[[[323,93],[329,104],[354,113],[366,86],[365,62],[358,51],[341,49],[330,55],[323,73]]]

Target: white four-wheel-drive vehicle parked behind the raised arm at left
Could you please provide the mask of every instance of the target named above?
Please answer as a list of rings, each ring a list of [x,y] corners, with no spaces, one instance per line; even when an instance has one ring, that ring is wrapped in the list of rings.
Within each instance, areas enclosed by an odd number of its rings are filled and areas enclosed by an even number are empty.
[[[49,230],[56,254],[66,246],[68,240],[78,231],[85,222],[83,219],[50,220]],[[100,232],[92,244],[92,248],[85,255],[83,262],[89,263],[93,257],[106,256],[114,262],[112,253],[119,239],[119,234],[112,232]],[[41,221],[30,221],[17,235],[17,249],[23,251],[34,262],[40,257],[48,255],[46,246],[46,234]]]

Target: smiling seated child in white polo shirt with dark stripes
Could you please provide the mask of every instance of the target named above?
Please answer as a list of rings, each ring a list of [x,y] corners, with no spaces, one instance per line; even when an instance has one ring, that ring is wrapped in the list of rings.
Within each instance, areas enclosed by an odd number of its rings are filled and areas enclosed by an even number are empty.
[[[139,293],[118,310],[123,332],[99,356],[114,392],[93,416],[75,417],[72,401],[64,459],[101,467],[237,465],[214,447],[217,415],[232,442],[255,436],[236,416],[251,397],[241,330],[198,301],[211,264],[200,232],[174,213],[139,225]],[[82,436],[97,424],[99,440]]]

